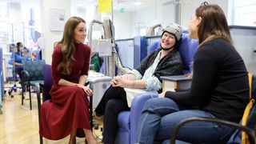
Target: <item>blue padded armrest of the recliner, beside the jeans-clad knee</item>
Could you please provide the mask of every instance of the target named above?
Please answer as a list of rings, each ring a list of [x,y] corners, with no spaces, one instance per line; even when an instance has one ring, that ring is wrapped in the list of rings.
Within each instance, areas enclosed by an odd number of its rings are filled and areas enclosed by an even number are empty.
[[[143,93],[134,97],[130,105],[130,143],[135,141],[136,130],[138,127],[138,119],[142,114],[144,104],[150,98],[157,98],[158,94]]]

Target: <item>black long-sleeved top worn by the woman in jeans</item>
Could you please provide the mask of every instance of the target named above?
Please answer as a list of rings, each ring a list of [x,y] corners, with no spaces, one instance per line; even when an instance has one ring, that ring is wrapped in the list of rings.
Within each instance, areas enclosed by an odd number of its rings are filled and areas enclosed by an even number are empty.
[[[239,122],[249,102],[246,66],[223,38],[205,42],[194,55],[191,88],[166,92],[165,97],[186,106],[198,106],[216,118]]]

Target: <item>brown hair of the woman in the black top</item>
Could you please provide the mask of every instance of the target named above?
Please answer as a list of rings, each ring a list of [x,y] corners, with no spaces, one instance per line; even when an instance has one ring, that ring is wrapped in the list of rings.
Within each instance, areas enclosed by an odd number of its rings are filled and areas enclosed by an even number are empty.
[[[202,5],[196,9],[195,15],[197,18],[202,18],[198,27],[198,39],[200,44],[215,38],[224,38],[226,41],[232,43],[230,29],[221,7],[202,2]]]

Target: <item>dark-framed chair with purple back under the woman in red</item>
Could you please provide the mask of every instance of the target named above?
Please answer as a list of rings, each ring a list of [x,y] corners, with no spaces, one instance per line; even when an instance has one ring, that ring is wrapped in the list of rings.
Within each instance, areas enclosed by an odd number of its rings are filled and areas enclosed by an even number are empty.
[[[42,91],[42,102],[50,102],[51,96],[49,94],[51,86],[53,85],[54,81],[51,77],[51,65],[45,64],[43,66],[43,81],[39,83],[39,88],[37,89],[37,99],[38,99],[38,124],[40,125],[40,118],[41,118],[41,96],[40,91]],[[89,82],[86,83],[86,85],[89,84]],[[90,97],[90,127],[91,130],[93,128],[93,108],[92,108],[92,102],[93,97]],[[40,138],[40,144],[43,143],[42,136],[39,134]]]

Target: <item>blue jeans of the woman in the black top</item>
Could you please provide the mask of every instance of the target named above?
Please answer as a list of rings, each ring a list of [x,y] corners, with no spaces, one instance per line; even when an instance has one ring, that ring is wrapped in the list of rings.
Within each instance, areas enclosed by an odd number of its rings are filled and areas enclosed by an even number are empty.
[[[214,118],[206,111],[182,106],[170,98],[152,98],[142,110],[138,122],[136,143],[150,144],[170,139],[171,131],[185,118]],[[210,122],[189,122],[179,130],[178,140],[192,143],[225,143],[233,129]]]

